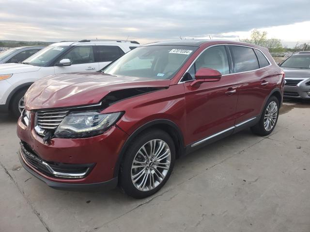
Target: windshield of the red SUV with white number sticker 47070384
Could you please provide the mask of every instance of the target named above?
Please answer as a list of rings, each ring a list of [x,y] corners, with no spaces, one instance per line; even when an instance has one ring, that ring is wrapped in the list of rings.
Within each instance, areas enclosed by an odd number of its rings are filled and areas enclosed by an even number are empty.
[[[171,79],[194,53],[193,46],[137,47],[102,70],[111,75]]]

